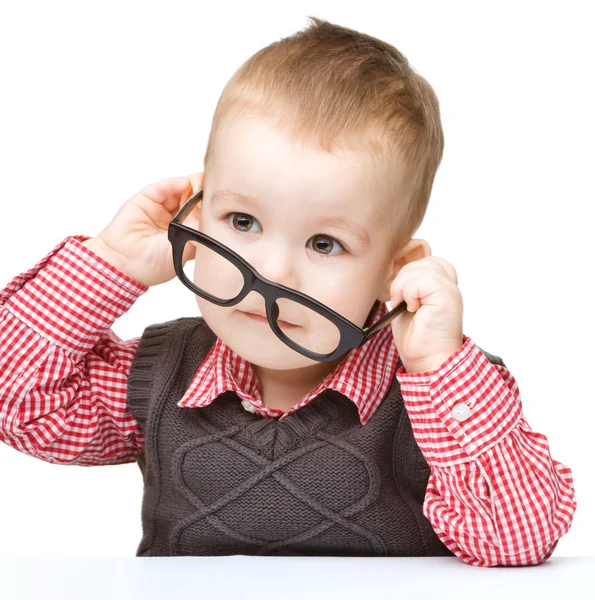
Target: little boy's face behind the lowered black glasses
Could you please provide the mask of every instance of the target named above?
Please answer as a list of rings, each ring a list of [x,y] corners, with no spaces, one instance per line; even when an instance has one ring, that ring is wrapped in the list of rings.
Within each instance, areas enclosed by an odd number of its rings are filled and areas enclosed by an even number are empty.
[[[379,210],[389,202],[386,192],[379,192],[382,176],[381,167],[365,152],[330,154],[303,147],[269,123],[244,119],[228,125],[217,139],[198,228],[237,252],[263,277],[312,296],[362,327],[374,301],[390,299],[387,286],[396,274],[394,257],[387,255],[391,223],[378,217],[388,215]],[[232,192],[250,196],[256,204]],[[349,226],[330,223],[334,218],[355,224],[360,235]],[[200,278],[218,277],[205,268],[196,261],[197,285]],[[242,312],[265,313],[258,292],[232,307],[200,296],[196,302],[213,332],[253,365],[320,368],[321,363],[279,340],[266,321]],[[280,311],[283,319],[281,304]],[[295,323],[297,312],[285,316]],[[324,329],[302,333],[325,335]],[[323,364],[330,369],[337,363]]]

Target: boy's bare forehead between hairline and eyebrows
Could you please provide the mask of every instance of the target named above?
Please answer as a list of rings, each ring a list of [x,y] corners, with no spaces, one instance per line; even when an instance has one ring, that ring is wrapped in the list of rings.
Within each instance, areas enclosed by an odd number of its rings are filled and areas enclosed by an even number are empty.
[[[383,165],[361,151],[333,152],[292,139],[269,121],[244,118],[220,130],[208,165],[208,193],[230,190],[264,206],[299,205],[312,214],[350,218],[373,226],[385,199]]]

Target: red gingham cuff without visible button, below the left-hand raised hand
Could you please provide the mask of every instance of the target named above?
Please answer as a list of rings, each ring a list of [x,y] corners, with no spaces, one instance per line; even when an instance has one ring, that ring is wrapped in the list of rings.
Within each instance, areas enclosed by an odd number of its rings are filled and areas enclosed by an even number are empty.
[[[0,291],[0,306],[49,341],[86,354],[148,286],[82,244],[65,238]]]

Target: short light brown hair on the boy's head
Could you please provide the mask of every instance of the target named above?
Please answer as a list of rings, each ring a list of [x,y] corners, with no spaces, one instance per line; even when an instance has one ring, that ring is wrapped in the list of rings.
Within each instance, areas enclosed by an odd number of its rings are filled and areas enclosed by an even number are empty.
[[[252,55],[223,89],[204,156],[205,178],[222,127],[245,117],[271,121],[292,140],[329,152],[335,144],[365,149],[375,164],[387,161],[392,174],[386,185],[394,253],[421,225],[442,160],[438,99],[394,46],[309,19],[304,30]],[[370,206],[378,216],[386,208]]]

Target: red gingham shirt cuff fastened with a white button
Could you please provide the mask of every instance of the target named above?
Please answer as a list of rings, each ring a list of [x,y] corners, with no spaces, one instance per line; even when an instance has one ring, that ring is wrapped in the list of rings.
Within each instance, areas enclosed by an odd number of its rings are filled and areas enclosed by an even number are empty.
[[[499,369],[473,340],[438,369],[396,372],[415,439],[428,464],[468,462],[506,437],[522,417],[521,404]]]

